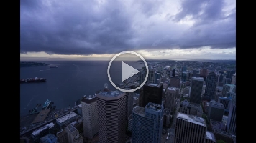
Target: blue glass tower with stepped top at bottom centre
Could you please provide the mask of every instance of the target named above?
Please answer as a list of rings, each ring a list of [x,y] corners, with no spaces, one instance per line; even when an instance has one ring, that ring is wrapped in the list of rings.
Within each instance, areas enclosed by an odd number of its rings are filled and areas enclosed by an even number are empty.
[[[163,106],[149,102],[145,108],[134,107],[132,142],[160,143],[163,129]]]

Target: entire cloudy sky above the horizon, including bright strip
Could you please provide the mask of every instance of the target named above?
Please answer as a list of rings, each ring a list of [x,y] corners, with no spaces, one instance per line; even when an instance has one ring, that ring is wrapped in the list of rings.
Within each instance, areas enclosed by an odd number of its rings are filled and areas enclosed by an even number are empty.
[[[22,0],[21,57],[236,59],[234,0]]]

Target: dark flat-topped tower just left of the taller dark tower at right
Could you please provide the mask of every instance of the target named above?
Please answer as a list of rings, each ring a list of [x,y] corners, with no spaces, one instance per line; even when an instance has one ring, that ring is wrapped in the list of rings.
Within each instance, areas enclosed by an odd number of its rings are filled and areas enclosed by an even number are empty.
[[[190,102],[200,104],[204,79],[202,77],[191,78],[191,96]]]

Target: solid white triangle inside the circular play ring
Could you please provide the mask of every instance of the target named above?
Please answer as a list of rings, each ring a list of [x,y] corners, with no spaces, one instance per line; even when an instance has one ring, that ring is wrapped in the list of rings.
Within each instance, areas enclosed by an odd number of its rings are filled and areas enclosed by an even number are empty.
[[[134,74],[137,74],[138,72],[140,71],[122,61],[122,82],[124,82],[125,79],[134,76]]]

